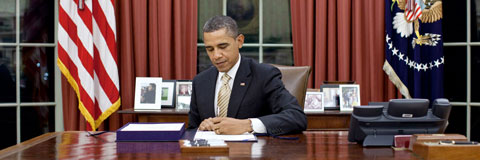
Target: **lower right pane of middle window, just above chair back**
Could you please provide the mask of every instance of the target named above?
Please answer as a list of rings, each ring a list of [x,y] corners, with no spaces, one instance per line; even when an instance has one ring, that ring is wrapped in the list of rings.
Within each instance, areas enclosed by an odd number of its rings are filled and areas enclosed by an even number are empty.
[[[292,47],[263,47],[263,63],[293,66]]]

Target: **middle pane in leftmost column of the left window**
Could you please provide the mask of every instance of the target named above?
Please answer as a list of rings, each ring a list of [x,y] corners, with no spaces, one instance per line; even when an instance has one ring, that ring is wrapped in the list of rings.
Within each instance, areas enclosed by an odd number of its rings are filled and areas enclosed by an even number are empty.
[[[16,58],[15,47],[0,47],[0,84],[2,91],[0,92],[0,103],[15,102],[15,70]],[[1,123],[0,123],[1,124]]]

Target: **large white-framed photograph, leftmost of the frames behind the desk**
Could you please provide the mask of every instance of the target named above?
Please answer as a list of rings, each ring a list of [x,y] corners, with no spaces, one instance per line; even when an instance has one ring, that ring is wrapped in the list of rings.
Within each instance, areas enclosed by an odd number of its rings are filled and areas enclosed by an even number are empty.
[[[135,110],[157,110],[162,108],[162,78],[137,77],[135,79]]]

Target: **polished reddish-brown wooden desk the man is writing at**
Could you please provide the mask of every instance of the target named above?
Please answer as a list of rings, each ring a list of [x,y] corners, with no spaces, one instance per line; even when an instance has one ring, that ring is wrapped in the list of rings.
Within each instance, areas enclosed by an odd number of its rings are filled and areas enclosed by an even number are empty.
[[[410,151],[363,148],[347,141],[346,131],[305,131],[298,140],[259,137],[258,142],[231,142],[227,154],[180,153],[178,142],[115,142],[108,132],[47,133],[0,151],[0,159],[417,159]]]

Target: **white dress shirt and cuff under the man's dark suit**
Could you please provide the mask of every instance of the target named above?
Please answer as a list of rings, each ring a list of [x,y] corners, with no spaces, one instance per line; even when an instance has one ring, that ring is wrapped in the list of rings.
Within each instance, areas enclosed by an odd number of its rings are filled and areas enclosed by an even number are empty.
[[[237,74],[238,67],[240,67],[240,61],[242,59],[242,56],[238,55],[238,61],[233,65],[233,67],[227,72],[227,74],[232,78],[230,81],[228,81],[228,86],[230,86],[230,89],[233,91],[233,82],[235,81],[235,75]],[[217,76],[217,83],[215,85],[215,116],[218,116],[218,105],[217,105],[217,100],[218,100],[218,92],[220,91],[220,87],[222,87],[222,76],[225,74],[225,72],[218,72]],[[230,105],[229,105],[230,106]],[[252,121],[252,129],[253,132],[255,133],[267,133],[267,129],[265,128],[265,125],[263,122],[258,119],[258,118],[250,118]]]

